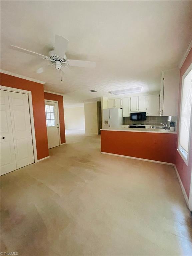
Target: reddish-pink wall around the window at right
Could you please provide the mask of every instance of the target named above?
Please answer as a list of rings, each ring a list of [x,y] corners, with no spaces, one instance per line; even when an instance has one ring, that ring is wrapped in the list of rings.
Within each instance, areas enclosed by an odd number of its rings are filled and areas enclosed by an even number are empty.
[[[179,85],[179,109],[178,109],[178,131],[179,131],[179,115],[180,115],[180,102],[181,102],[181,89],[182,89],[182,77],[188,67],[192,63],[192,48],[187,55],[187,58],[185,59],[181,69],[180,69],[180,85]],[[179,135],[179,132],[178,132]],[[178,136],[177,136],[177,141],[178,141]],[[183,161],[182,157],[176,150],[176,160],[175,160],[175,165],[177,167],[177,171],[179,173],[179,176],[181,178],[181,181],[183,183],[183,187],[185,188],[186,194],[189,198],[189,193],[190,193],[190,185],[191,185],[191,169],[192,169],[192,134],[190,137],[190,151],[189,151],[189,165],[187,166],[185,162]]]

